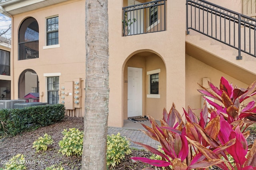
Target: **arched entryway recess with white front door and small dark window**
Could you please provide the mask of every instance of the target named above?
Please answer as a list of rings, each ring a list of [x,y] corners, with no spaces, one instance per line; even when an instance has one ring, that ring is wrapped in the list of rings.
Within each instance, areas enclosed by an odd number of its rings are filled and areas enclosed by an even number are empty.
[[[152,115],[162,119],[166,107],[166,67],[154,52],[133,54],[124,64],[124,119]]]

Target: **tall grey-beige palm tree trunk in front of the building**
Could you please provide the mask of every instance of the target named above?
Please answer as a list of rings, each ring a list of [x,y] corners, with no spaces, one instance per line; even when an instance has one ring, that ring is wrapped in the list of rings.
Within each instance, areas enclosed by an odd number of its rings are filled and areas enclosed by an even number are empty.
[[[82,170],[106,170],[108,0],[86,0],[86,79]]]

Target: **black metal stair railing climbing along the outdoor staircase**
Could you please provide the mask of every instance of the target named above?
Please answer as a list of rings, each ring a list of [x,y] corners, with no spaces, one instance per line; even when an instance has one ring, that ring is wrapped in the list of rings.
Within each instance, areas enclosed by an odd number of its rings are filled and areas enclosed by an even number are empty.
[[[204,0],[187,0],[186,27],[256,57],[256,20]]]

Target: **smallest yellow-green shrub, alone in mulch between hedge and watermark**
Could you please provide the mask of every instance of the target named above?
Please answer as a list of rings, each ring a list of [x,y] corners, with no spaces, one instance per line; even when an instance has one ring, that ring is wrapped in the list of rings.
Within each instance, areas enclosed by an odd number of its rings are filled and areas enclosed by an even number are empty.
[[[44,134],[44,137],[39,137],[36,141],[33,142],[33,148],[36,148],[36,153],[40,150],[46,151],[48,145],[52,145],[53,140],[52,136],[47,133]]]

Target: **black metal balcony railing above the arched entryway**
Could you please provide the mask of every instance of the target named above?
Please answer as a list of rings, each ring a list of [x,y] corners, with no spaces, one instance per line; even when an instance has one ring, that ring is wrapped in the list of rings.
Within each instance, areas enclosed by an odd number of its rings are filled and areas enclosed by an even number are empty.
[[[123,35],[166,30],[166,0],[123,7]]]

